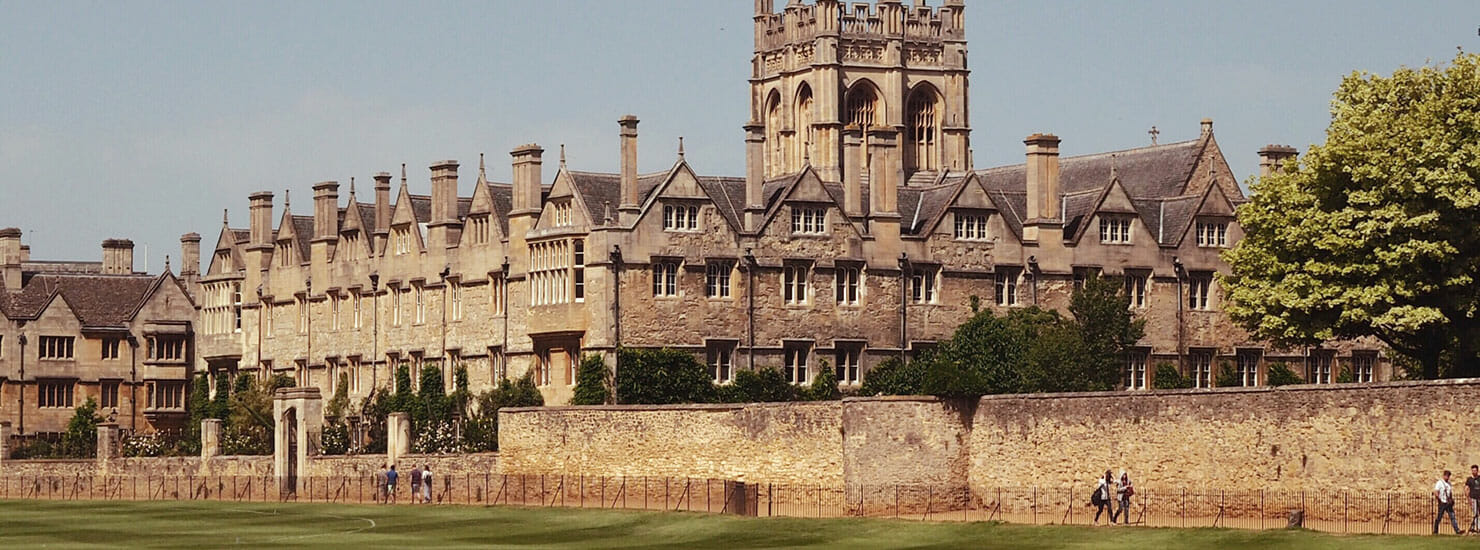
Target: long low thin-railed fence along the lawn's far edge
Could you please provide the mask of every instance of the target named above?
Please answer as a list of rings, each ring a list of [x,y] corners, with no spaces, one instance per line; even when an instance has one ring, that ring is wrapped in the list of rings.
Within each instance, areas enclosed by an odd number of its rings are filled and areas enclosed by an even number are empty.
[[[355,504],[471,504],[670,510],[789,517],[900,517],[1032,525],[1109,523],[1177,528],[1285,528],[1292,513],[1316,531],[1430,534],[1437,504],[1422,492],[1140,489],[1129,512],[1106,510],[1067,488],[781,485],[702,478],[434,473],[431,491],[403,473],[394,488],[373,475],[312,476],[0,476],[0,500],[203,500]],[[414,491],[414,492],[413,492]],[[1458,498],[1468,529],[1476,510]],[[1100,512],[1097,515],[1097,512]],[[1098,517],[1097,517],[1098,516]],[[1447,519],[1442,532],[1452,531]]]

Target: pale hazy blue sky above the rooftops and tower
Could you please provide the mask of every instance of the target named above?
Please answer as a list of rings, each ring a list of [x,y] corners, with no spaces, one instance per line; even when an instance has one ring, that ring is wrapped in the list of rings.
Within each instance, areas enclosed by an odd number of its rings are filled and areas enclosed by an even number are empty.
[[[938,4],[932,0],[931,4]],[[37,259],[98,259],[104,238],[179,266],[179,235],[212,247],[246,195],[406,163],[537,142],[554,173],[614,170],[617,124],[642,118],[644,172],[678,136],[703,173],[743,174],[752,53],[747,0],[13,1],[0,0],[0,226]],[[1023,136],[1066,155],[1215,133],[1234,173],[1264,143],[1320,142],[1331,92],[1480,50],[1474,1],[971,1],[971,126],[978,167],[1021,163]],[[209,251],[207,251],[209,254]]]

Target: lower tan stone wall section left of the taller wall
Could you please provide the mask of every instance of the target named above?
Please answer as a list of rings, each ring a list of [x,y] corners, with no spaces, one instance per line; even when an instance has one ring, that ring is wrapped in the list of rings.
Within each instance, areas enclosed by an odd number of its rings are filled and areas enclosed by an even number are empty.
[[[499,411],[505,473],[844,482],[842,405],[611,405]]]

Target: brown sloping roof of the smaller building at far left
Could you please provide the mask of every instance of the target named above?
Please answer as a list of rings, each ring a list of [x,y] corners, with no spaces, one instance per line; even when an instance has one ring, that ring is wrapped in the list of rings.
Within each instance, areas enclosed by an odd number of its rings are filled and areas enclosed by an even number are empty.
[[[7,315],[31,318],[52,303],[67,302],[83,327],[123,327],[163,275],[55,275],[37,274],[9,299]]]

